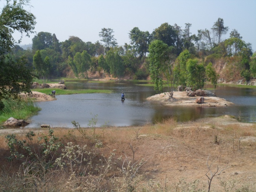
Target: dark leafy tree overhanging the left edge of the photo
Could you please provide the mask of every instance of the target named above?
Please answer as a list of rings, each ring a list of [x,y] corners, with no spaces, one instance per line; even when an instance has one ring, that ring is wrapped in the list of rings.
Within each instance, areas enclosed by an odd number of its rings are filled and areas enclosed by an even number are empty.
[[[15,43],[20,43],[23,34],[29,37],[35,28],[35,16],[24,9],[29,0],[6,0],[6,5],[0,10],[0,102],[10,95],[22,91],[30,93],[34,74],[27,67],[27,59],[10,59],[7,53]],[[1,12],[2,11],[2,12]],[[15,41],[12,34],[17,31],[21,37]],[[1,105],[3,106],[3,105]]]

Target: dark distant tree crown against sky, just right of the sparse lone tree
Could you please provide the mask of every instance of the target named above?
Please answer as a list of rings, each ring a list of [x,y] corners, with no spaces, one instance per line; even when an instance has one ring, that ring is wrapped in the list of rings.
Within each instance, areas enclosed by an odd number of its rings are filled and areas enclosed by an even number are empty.
[[[152,40],[152,35],[149,34],[148,31],[141,31],[138,27],[134,27],[130,30],[129,38],[131,40],[131,44],[134,46],[134,49],[142,58],[146,56],[148,52],[149,44]]]

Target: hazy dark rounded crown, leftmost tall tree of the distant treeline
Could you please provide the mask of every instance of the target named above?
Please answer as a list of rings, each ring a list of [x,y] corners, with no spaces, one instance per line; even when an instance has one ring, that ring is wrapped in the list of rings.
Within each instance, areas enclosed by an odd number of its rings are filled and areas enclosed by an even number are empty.
[[[34,51],[46,49],[52,45],[53,45],[53,37],[52,37],[52,34],[49,32],[39,32],[32,39],[32,49]]]

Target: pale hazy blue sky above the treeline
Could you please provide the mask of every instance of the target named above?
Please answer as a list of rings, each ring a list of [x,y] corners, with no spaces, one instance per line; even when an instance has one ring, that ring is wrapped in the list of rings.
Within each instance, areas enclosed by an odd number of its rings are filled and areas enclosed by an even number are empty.
[[[114,30],[121,46],[130,44],[128,33],[134,27],[152,33],[162,23],[177,23],[182,29],[191,23],[190,30],[197,35],[198,29],[210,30],[222,18],[229,27],[222,40],[236,29],[256,51],[256,0],[31,0],[30,4],[35,31],[54,33],[59,41],[76,36],[95,43],[105,27]],[[32,43],[33,37],[23,38],[21,44]]]

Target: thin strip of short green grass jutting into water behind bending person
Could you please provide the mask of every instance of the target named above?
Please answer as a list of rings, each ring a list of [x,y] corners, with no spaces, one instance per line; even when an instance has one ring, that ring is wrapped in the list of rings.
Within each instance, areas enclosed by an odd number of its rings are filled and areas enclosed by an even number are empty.
[[[32,91],[38,91],[40,93],[52,94],[53,88],[43,88],[43,89],[32,89]],[[61,89],[54,88],[56,91],[55,95],[60,94],[82,94],[82,93],[112,93],[111,90],[96,90],[96,89],[78,89],[78,90],[69,90],[69,89]]]

